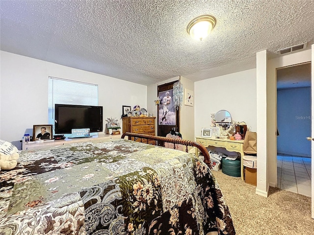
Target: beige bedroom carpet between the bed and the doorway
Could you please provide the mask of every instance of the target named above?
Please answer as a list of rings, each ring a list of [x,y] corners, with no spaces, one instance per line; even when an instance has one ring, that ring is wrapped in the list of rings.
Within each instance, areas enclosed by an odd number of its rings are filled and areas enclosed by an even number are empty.
[[[229,206],[237,235],[314,235],[311,197],[279,188],[269,196],[255,186],[219,171],[212,171]]]

